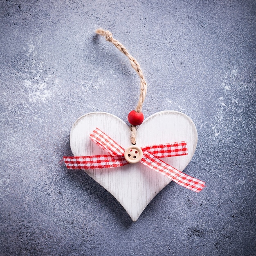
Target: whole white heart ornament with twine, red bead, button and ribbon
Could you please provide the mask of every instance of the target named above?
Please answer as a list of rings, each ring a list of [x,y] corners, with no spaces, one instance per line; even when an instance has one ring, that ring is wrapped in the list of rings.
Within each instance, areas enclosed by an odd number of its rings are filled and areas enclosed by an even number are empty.
[[[158,112],[143,121],[147,84],[139,63],[110,31],[96,33],[128,57],[140,78],[139,101],[128,115],[130,127],[106,112],[77,119],[70,132],[74,156],[63,159],[67,168],[85,170],[136,221],[171,180],[195,192],[203,189],[205,182],[182,173],[195,152],[197,130],[188,116],[177,111]]]

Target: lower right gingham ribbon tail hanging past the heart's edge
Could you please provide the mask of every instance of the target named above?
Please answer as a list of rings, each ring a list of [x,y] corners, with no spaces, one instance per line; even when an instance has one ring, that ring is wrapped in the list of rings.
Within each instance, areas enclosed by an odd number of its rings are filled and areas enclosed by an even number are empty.
[[[182,173],[173,166],[170,166],[161,159],[158,159],[148,151],[143,152],[143,158],[140,162],[187,189],[200,192],[204,188],[205,182]]]

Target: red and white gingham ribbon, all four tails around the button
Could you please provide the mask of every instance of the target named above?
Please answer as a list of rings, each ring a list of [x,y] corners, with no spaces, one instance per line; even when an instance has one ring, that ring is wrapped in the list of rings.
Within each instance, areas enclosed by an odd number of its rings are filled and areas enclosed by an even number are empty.
[[[64,162],[69,169],[98,169],[112,168],[128,164],[124,157],[125,149],[117,142],[111,139],[104,132],[96,128],[91,134],[92,139],[99,147],[106,150],[110,155],[94,155],[81,157],[63,157]],[[140,162],[149,168],[157,171],[177,184],[191,189],[195,192],[200,192],[204,188],[205,182],[195,179],[181,171],[175,169],[163,162],[158,157],[172,157],[187,155],[188,148],[185,141],[175,142],[173,144],[161,144],[146,146],[141,148],[143,157]]]

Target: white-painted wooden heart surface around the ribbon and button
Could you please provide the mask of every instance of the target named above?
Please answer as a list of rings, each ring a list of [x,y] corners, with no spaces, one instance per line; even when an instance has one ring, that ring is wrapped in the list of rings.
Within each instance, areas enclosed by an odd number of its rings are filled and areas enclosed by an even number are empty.
[[[131,145],[130,129],[124,121],[106,112],[91,112],[77,119],[72,126],[70,147],[74,156],[108,155],[89,138],[95,128],[105,132],[123,148]],[[188,116],[177,111],[162,111],[148,117],[139,126],[136,146],[186,141],[188,155],[163,158],[167,164],[183,171],[193,157],[197,140],[197,130]],[[140,162],[85,172],[120,202],[133,221],[139,218],[155,195],[171,182]]]

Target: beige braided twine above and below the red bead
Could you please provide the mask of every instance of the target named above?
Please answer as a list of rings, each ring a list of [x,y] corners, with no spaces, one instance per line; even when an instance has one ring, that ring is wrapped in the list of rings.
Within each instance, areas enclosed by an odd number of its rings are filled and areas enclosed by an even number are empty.
[[[124,47],[124,45],[122,45],[119,41],[117,41],[115,38],[113,38],[112,33],[110,31],[104,30],[104,29],[97,29],[95,32],[101,36],[104,36],[108,42],[115,45],[115,47],[117,47],[117,49],[119,49],[120,52],[122,52],[124,55],[126,55],[132,65],[132,67],[135,69],[135,71],[139,75],[140,93],[139,93],[139,101],[137,103],[135,111],[140,113],[142,110],[143,102],[146,98],[147,83],[144,79],[144,75],[142,73],[139,63],[135,60],[135,58],[133,58],[129,54],[129,52],[127,51],[126,47]],[[131,130],[131,142],[132,142],[132,145],[135,145],[136,144],[136,126],[131,125],[130,130]]]

